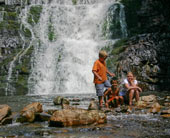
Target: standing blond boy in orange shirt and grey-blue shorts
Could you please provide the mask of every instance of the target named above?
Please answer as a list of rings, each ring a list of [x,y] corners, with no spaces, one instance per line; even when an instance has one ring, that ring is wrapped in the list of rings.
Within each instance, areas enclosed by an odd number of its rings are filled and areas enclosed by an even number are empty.
[[[108,89],[111,87],[110,82],[107,79],[107,74],[115,76],[114,73],[110,73],[106,67],[107,53],[104,50],[99,52],[99,59],[94,62],[92,72],[94,74],[94,84],[96,88],[96,94],[99,99],[99,107],[103,104],[104,88]]]

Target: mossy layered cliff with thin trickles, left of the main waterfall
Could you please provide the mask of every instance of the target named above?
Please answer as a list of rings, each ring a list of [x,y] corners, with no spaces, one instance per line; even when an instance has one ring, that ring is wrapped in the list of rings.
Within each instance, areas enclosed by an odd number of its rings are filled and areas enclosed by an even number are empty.
[[[32,49],[26,49],[31,33],[21,24],[21,4],[20,1],[0,1],[0,95],[27,92]]]

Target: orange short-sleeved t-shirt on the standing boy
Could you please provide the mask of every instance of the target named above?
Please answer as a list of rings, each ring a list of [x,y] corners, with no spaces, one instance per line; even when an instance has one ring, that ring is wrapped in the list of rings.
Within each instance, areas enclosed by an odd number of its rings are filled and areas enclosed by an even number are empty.
[[[102,81],[100,81],[95,75],[94,75],[94,83],[95,84],[101,84],[104,81],[107,80],[107,67],[106,63],[102,63],[99,59],[94,62],[92,71],[96,71],[97,74],[102,78]]]

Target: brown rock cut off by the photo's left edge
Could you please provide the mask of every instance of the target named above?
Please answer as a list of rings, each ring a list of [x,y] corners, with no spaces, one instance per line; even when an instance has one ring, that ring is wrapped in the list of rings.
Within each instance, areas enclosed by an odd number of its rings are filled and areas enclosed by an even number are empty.
[[[0,105],[0,122],[9,115],[11,115],[11,107],[6,104]]]

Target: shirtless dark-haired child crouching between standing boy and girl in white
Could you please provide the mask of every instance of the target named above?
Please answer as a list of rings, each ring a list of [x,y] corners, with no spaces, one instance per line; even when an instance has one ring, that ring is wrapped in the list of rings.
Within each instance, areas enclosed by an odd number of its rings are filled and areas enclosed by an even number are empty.
[[[111,80],[111,88],[109,88],[105,93],[104,93],[104,99],[105,99],[105,105],[107,108],[109,108],[109,105],[113,102],[114,100],[116,101],[116,107],[120,106],[120,104],[123,104],[123,96],[119,96],[119,87],[118,87],[118,81],[116,77],[113,77]]]

